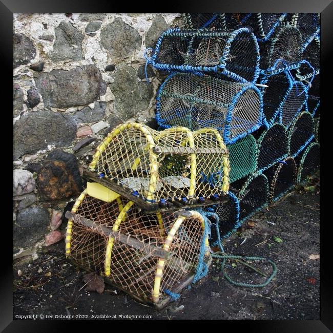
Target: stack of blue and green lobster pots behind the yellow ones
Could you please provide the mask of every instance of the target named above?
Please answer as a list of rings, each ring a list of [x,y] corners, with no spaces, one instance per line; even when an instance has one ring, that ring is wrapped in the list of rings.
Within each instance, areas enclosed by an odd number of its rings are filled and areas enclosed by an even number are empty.
[[[212,127],[226,143],[229,200],[208,209],[217,245],[319,168],[320,17],[183,16],[183,30],[164,32],[149,59],[171,73],[157,93],[156,120],[163,129]]]

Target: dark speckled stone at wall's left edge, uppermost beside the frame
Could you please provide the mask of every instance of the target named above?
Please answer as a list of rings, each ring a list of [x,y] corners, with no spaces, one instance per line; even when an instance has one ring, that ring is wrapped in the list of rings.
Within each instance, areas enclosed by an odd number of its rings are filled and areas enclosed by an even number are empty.
[[[36,56],[36,49],[32,41],[24,34],[13,36],[13,67],[26,65]]]

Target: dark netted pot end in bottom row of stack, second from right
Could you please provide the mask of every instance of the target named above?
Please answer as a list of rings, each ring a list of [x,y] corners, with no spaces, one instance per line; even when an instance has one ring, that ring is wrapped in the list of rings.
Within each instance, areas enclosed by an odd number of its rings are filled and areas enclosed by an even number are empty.
[[[295,185],[297,166],[294,158],[286,158],[264,171],[269,184],[269,201],[281,198]]]

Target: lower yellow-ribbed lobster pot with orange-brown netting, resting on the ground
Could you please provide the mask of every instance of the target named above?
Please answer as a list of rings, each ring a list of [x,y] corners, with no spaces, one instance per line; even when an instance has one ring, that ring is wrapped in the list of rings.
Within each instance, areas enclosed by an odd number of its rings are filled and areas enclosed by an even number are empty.
[[[198,212],[142,214],[123,197],[109,201],[86,189],[66,213],[66,256],[75,264],[156,307],[210,264],[205,220]]]

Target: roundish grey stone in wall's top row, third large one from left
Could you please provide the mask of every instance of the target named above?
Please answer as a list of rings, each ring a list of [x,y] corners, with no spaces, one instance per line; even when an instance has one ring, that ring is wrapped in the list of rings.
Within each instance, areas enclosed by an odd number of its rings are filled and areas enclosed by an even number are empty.
[[[117,17],[104,27],[100,33],[100,44],[114,57],[128,57],[141,45],[138,32]]]

